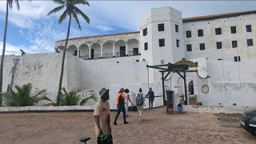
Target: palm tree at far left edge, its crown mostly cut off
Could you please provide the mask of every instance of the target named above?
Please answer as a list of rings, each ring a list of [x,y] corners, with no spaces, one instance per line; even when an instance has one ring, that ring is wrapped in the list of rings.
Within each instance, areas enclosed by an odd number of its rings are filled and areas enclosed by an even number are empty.
[[[7,26],[8,26],[8,15],[9,15],[9,8],[10,10],[13,8],[14,2],[16,2],[17,9],[19,10],[18,0],[6,0],[6,26],[5,26],[5,32],[3,35],[2,58],[1,58],[1,66],[0,66],[0,106],[2,106],[2,75],[3,75],[3,61],[6,53],[6,33],[7,33]]]

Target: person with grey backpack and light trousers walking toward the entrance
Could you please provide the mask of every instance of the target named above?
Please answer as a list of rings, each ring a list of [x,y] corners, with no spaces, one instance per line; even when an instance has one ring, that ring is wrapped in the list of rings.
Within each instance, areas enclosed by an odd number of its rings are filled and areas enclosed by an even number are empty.
[[[142,113],[144,110],[144,101],[145,101],[145,97],[142,94],[142,88],[139,88],[138,90],[138,94],[136,96],[136,105],[137,105],[137,110],[138,110],[138,123],[142,122]]]

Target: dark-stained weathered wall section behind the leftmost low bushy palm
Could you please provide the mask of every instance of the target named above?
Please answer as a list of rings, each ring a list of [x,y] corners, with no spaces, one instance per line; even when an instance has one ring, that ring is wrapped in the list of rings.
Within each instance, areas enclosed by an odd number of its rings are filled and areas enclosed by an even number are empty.
[[[3,91],[12,84],[22,86],[32,83],[33,90],[46,89],[48,92],[58,91],[61,72],[62,54],[25,54],[21,56],[7,55],[3,70]],[[66,69],[62,86],[66,86]]]

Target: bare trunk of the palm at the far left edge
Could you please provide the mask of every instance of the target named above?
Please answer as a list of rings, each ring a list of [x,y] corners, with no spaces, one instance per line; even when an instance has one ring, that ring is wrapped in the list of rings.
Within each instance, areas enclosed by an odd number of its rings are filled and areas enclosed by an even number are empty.
[[[6,53],[6,33],[7,33],[7,26],[8,26],[8,14],[9,14],[9,7],[8,7],[8,1],[6,1],[6,26],[5,26],[5,33],[3,35],[2,58],[1,58],[1,67],[0,67],[0,106],[2,106],[3,60],[5,58],[5,53]]]

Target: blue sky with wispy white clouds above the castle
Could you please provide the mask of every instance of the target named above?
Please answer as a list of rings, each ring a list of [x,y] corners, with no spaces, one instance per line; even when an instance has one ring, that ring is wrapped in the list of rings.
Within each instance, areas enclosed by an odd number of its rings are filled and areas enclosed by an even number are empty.
[[[254,1],[88,1],[90,6],[78,6],[90,24],[80,20],[82,30],[72,24],[70,38],[98,34],[116,34],[139,30],[140,14],[150,8],[172,6],[182,11],[183,18],[207,14],[256,10]],[[67,19],[58,24],[62,12],[47,16],[58,5],[52,1],[20,0],[10,10],[6,39],[6,54],[47,53],[54,51],[54,42],[66,38]],[[0,53],[6,15],[6,1],[0,2]]]

